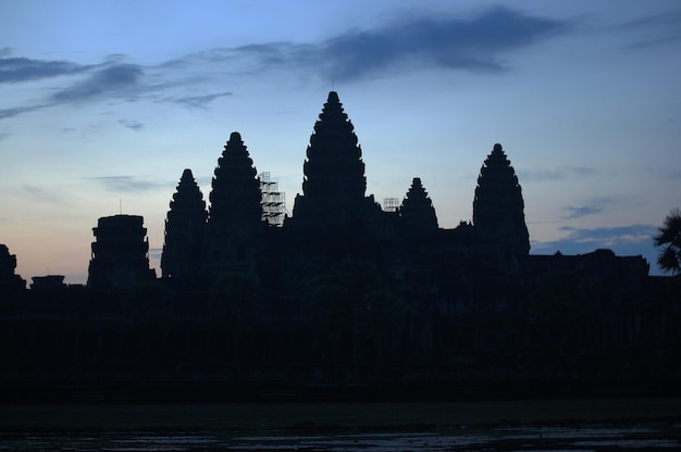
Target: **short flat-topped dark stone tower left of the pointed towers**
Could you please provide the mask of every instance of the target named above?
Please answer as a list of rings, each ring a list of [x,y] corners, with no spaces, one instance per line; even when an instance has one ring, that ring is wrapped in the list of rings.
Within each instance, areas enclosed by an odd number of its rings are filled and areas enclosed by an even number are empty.
[[[156,279],[149,268],[149,241],[144,218],[138,215],[114,215],[99,218],[92,228],[92,259],[87,287],[96,290],[125,290],[136,284]]]

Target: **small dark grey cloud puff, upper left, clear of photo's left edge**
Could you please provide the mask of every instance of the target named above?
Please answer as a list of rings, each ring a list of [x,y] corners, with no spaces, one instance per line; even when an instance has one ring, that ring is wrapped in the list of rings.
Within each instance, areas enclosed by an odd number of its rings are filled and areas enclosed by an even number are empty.
[[[111,64],[92,73],[88,78],[54,95],[55,102],[79,102],[101,97],[131,93],[139,87],[143,67],[136,64]]]

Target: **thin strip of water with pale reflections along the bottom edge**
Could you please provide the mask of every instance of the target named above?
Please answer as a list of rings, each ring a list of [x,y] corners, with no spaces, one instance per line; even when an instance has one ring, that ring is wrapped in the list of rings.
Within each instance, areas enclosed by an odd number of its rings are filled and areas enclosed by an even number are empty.
[[[450,428],[432,432],[262,435],[238,432],[101,431],[0,434],[0,451],[671,451],[681,424]]]

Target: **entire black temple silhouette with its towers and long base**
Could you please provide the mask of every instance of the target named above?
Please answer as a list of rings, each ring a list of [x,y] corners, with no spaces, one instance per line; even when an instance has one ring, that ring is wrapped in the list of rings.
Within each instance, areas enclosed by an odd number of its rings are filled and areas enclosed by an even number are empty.
[[[367,194],[362,149],[332,91],[304,175],[288,216],[276,183],[232,133],[209,203],[190,170],[179,178],[160,277],[137,215],[99,218],[86,287],[48,275],[25,290],[2,246],[3,378],[12,388],[37,381],[32,390],[198,380],[678,387],[678,278],[605,249],[531,254],[500,145],[483,161],[472,223],[442,228],[420,177],[401,202]]]

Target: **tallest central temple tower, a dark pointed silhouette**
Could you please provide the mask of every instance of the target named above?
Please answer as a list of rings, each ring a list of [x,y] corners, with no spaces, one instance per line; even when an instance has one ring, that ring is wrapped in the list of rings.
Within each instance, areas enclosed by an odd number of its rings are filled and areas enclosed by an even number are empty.
[[[364,197],[367,178],[355,127],[335,91],[329,93],[304,164],[302,194],[296,197],[286,226],[337,229],[369,221],[380,211],[373,197]]]

